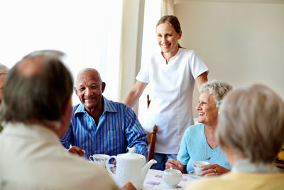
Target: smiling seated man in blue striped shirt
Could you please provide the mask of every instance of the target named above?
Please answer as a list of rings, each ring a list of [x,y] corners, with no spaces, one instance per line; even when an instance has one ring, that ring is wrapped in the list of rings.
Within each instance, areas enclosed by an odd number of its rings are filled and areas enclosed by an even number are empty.
[[[147,157],[147,134],[135,112],[107,100],[102,95],[105,86],[97,70],[80,71],[74,90],[81,103],[73,107],[70,127],[60,141],[69,152],[86,159],[93,154],[125,153],[127,147],[136,147],[136,153]]]

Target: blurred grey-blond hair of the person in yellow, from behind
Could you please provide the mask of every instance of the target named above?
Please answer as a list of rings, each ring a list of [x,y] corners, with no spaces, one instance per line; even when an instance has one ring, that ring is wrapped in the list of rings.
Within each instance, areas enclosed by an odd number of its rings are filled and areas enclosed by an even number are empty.
[[[284,142],[284,102],[270,88],[234,90],[219,110],[217,142],[236,157],[271,164]]]

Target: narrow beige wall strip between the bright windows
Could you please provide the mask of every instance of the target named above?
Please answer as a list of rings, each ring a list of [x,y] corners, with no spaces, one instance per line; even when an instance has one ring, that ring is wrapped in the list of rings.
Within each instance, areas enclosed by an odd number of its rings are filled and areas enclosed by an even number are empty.
[[[135,78],[140,69],[144,11],[143,0],[124,0],[123,2],[119,102],[124,101],[135,84]],[[133,110],[138,112],[138,104],[133,107]]]

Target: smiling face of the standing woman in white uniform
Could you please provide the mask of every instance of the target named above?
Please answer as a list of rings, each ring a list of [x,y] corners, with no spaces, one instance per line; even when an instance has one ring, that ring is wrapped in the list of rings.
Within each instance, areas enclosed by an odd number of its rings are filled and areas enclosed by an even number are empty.
[[[163,53],[175,53],[178,49],[178,40],[182,37],[181,31],[177,33],[175,28],[168,23],[160,23],[156,28],[157,42]]]

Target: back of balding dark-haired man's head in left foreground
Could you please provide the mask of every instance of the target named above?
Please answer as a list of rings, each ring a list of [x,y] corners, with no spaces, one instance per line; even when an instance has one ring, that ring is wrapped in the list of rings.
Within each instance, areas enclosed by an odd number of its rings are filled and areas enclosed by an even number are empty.
[[[0,120],[57,122],[72,95],[72,76],[58,51],[35,51],[9,71],[3,90]]]

